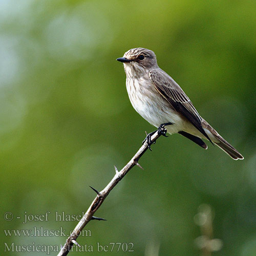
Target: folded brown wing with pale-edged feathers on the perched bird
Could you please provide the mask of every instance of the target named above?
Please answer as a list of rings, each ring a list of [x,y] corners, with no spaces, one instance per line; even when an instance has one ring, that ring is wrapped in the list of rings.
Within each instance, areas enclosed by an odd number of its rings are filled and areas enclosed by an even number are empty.
[[[212,141],[202,127],[202,118],[179,84],[162,70],[151,70],[150,79],[158,92],[172,105],[172,107],[183,115],[197,130],[199,130],[211,143]]]

